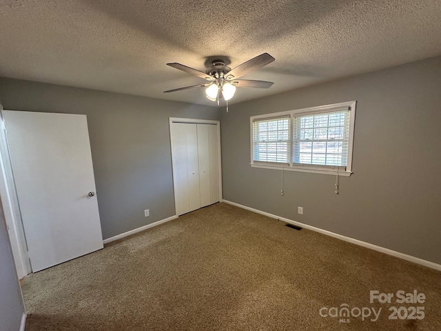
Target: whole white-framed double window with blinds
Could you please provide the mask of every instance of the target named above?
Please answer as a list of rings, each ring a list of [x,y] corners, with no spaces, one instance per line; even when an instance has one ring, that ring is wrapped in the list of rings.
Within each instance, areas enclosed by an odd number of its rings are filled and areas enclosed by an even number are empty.
[[[252,117],[252,166],[349,176],[355,111],[351,101]]]

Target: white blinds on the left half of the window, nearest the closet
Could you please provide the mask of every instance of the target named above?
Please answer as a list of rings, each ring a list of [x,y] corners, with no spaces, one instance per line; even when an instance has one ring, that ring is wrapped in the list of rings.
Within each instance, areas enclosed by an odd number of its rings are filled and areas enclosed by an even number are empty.
[[[289,163],[290,123],[289,115],[253,121],[253,161]]]

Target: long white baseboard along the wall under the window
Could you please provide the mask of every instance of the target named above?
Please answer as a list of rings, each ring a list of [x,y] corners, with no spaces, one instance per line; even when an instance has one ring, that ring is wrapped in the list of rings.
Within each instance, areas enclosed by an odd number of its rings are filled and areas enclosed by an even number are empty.
[[[334,232],[327,231],[327,230],[322,230],[320,228],[316,228],[316,227],[311,226],[311,225],[303,224],[303,223],[300,223],[300,222],[297,222],[297,221],[292,221],[291,219],[285,219],[285,217],[278,217],[277,215],[270,214],[269,212],[263,212],[262,210],[257,210],[257,209],[254,209],[254,208],[250,208],[250,207],[247,207],[246,205],[240,205],[239,203],[235,203],[235,202],[232,202],[232,201],[223,200],[223,202],[228,203],[230,205],[235,205],[236,207],[239,207],[239,208],[250,210],[252,212],[256,212],[257,214],[262,214],[262,215],[265,215],[267,217],[271,217],[271,219],[280,219],[280,221],[284,221],[284,222],[287,222],[287,223],[290,223],[290,224],[298,225],[301,228],[305,228],[305,229],[308,229],[308,230],[312,230],[312,231],[316,231],[316,232],[319,232],[319,233],[322,233],[322,234],[326,234],[329,237],[334,237],[334,238],[337,238],[337,239],[348,241],[349,243],[355,243],[356,245],[360,245],[360,246],[363,246],[363,247],[366,247],[366,248],[370,248],[371,250],[376,250],[376,251],[382,252],[384,254],[392,255],[393,257],[398,257],[398,258],[406,260],[406,261],[410,261],[410,262],[413,262],[413,263],[424,265],[425,267],[429,267],[429,268],[441,271],[441,265],[437,264],[437,263],[433,263],[431,261],[426,261],[426,260],[420,259],[418,257],[412,257],[411,255],[407,255],[407,254],[404,254],[404,253],[396,252],[395,250],[389,250],[388,248],[384,248],[384,247],[381,247],[381,246],[373,245],[372,243],[367,243],[365,241],[361,241],[361,240],[358,240],[358,239],[353,239],[353,238],[350,238],[350,237],[345,237],[345,236],[342,236],[341,234],[334,233]]]

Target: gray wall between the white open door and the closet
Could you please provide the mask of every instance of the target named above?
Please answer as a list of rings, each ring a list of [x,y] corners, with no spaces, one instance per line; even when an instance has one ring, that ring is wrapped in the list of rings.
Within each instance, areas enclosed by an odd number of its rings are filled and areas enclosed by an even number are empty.
[[[103,238],[173,216],[169,117],[219,119],[214,107],[0,79],[6,110],[86,114]],[[150,217],[144,210],[150,209]]]

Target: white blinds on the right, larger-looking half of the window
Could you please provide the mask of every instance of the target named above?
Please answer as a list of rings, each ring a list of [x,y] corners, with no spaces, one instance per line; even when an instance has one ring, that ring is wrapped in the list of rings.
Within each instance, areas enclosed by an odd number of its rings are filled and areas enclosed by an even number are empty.
[[[293,167],[346,170],[349,110],[294,116]]]

